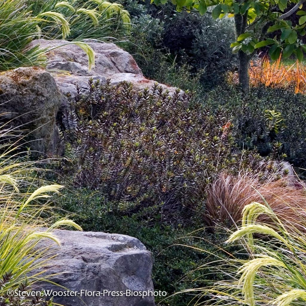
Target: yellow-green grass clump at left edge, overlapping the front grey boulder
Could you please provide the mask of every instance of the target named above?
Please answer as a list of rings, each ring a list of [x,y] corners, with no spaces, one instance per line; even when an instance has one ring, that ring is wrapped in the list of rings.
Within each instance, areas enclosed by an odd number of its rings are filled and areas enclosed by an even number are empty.
[[[52,207],[44,200],[62,186],[52,184],[39,187],[35,179],[39,171],[34,162],[24,161],[16,153],[16,143],[11,141],[14,131],[0,129],[0,305],[45,305],[40,297],[9,297],[8,290],[27,291],[35,282],[45,280],[44,264],[50,255],[48,246],[39,244],[44,239],[60,244],[52,233],[58,226],[73,226],[73,221],[52,221]],[[48,216],[48,217],[47,217]]]

